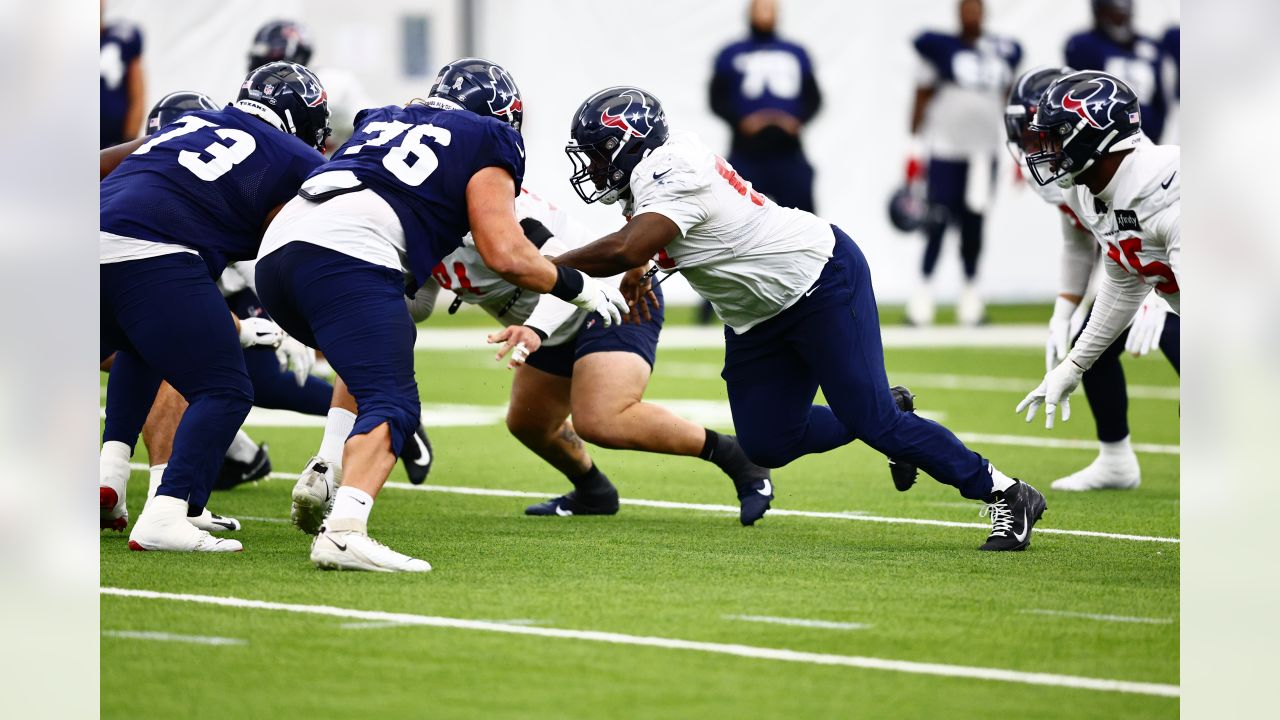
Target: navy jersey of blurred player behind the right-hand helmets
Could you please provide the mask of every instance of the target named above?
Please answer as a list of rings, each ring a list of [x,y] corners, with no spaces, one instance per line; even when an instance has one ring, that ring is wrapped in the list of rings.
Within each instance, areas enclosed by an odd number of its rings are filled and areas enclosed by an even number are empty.
[[[1066,64],[1078,70],[1102,70],[1125,81],[1138,95],[1142,131],[1160,141],[1165,129],[1165,83],[1161,78],[1164,54],[1156,41],[1134,36],[1129,47],[1116,45],[1096,29],[1073,35],[1066,41]]]

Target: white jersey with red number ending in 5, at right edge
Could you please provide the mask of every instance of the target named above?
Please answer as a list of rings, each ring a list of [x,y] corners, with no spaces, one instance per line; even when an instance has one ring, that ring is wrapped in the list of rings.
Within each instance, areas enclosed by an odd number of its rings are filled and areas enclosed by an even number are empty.
[[[1181,151],[1143,142],[1094,197],[1085,187],[1062,191],[1068,206],[1102,246],[1107,274],[1132,286],[1146,283],[1179,309],[1181,265]]]

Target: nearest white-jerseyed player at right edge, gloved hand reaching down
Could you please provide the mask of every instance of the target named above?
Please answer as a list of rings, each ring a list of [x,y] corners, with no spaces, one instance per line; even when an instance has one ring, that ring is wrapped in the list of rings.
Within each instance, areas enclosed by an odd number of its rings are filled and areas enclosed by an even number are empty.
[[[1107,255],[1106,275],[1084,331],[1066,357],[1018,404],[1027,420],[1044,405],[1044,427],[1068,402],[1080,377],[1120,337],[1155,290],[1180,311],[1180,149],[1152,145],[1142,133],[1138,96],[1115,76],[1071,73],[1044,91],[1029,129],[1039,151],[1027,167],[1062,200]]]

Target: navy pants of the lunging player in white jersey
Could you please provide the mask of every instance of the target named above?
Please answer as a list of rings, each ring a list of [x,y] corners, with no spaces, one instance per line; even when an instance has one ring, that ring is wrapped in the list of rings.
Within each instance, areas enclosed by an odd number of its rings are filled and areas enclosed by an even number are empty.
[[[867,259],[833,229],[835,254],[800,301],[746,333],[724,328],[722,375],[742,450],[759,465],[781,468],[860,439],[964,497],[989,497],[987,461],[890,396]],[[813,404],[819,387],[829,406]]]

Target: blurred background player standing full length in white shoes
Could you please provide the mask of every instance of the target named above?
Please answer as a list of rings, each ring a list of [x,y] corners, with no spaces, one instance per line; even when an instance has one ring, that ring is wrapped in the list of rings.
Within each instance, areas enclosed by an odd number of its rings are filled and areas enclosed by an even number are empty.
[[[960,231],[965,277],[956,319],[977,325],[986,316],[977,288],[983,213],[995,190],[1005,99],[1023,50],[1012,38],[984,33],[982,20],[982,0],[961,0],[959,35],[923,32],[915,38],[920,69],[906,179],[911,183],[924,176],[936,220],[924,225],[924,278],[906,305],[914,325],[933,323],[931,283],[951,225]]]

